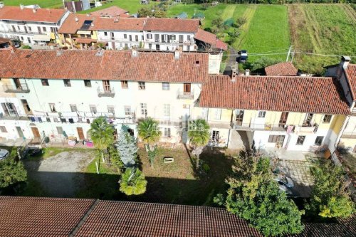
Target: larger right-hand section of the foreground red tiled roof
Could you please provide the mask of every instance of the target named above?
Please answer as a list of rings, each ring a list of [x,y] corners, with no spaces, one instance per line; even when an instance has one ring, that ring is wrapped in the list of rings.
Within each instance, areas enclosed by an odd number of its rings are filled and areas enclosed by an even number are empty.
[[[225,209],[100,201],[75,236],[261,236]]]

